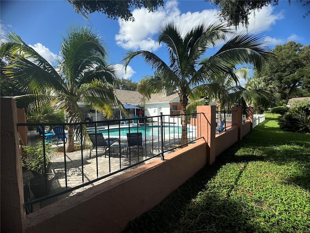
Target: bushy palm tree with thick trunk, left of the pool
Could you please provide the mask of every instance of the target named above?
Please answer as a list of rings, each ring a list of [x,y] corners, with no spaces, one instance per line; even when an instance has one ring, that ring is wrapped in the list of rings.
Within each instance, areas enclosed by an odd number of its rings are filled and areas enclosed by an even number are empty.
[[[29,93],[18,97],[31,103],[27,110],[38,111],[38,107],[52,105],[64,110],[68,123],[76,123],[83,121],[78,102],[90,104],[108,117],[112,104],[122,108],[112,88],[117,68],[107,63],[101,37],[86,26],[72,26],[62,38],[61,58],[56,67],[16,33],[9,33],[0,47],[0,55],[9,61],[3,72],[18,88]],[[68,126],[67,152],[75,150],[74,133],[80,139],[82,132],[87,146],[90,140],[86,127],[74,131],[74,126]]]

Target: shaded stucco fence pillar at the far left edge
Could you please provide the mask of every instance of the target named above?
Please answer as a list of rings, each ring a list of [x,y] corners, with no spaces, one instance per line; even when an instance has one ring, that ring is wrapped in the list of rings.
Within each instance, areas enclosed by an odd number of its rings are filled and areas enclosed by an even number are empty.
[[[1,232],[24,233],[23,178],[17,110],[13,98],[1,98]]]

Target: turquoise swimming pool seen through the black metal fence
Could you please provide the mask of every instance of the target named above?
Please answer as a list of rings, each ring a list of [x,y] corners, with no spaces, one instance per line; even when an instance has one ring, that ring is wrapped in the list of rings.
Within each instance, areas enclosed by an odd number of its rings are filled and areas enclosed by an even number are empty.
[[[164,134],[171,134],[171,133],[182,133],[182,127],[181,126],[164,126]],[[139,126],[139,129],[137,130],[137,127],[130,127],[130,133],[137,133],[141,132],[142,135],[151,136],[151,135],[160,135],[160,126]],[[115,129],[110,129],[109,133],[108,130],[97,130],[97,133],[102,133],[104,136],[119,136],[119,132],[121,132],[121,136],[127,136],[127,133],[129,133],[128,127],[126,128],[115,128]],[[188,128],[187,128],[188,132]],[[95,133],[94,130],[92,133]]]

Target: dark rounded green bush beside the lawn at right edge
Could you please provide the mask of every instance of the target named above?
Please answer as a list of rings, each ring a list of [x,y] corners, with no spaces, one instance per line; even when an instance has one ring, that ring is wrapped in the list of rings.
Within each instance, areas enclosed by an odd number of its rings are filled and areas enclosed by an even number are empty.
[[[310,101],[294,102],[279,118],[279,126],[284,131],[310,133]]]

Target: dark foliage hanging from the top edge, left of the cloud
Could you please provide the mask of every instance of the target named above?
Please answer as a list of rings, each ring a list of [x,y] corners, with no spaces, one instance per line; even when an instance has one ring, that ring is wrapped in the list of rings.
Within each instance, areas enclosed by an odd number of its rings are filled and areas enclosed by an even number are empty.
[[[134,20],[130,10],[132,7],[145,7],[150,12],[163,6],[163,0],[67,0],[75,9],[75,12],[81,13],[84,17],[93,12],[101,12],[111,19],[122,18],[126,21]]]

